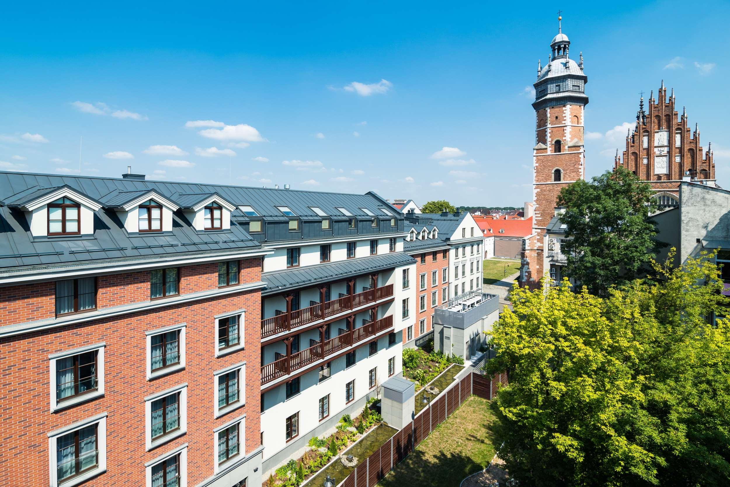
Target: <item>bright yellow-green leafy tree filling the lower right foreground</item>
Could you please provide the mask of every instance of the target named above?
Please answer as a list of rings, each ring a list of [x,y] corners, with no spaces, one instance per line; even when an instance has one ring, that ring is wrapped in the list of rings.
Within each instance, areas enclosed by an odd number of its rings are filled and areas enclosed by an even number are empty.
[[[488,371],[523,486],[730,485],[730,327],[706,257],[610,289],[512,289]]]

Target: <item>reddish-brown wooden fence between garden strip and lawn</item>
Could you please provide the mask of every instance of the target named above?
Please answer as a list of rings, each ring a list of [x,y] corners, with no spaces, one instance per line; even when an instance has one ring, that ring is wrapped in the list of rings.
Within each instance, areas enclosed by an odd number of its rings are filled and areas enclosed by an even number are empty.
[[[475,394],[491,400],[499,383],[507,383],[507,374],[497,374],[492,378],[478,373],[469,373],[461,380],[453,382],[428,408],[418,413],[410,424],[386,441],[375,453],[358,465],[352,473],[339,483],[340,487],[372,487],[388,475],[413,448],[426,439],[429,434],[458,408],[466,399]]]

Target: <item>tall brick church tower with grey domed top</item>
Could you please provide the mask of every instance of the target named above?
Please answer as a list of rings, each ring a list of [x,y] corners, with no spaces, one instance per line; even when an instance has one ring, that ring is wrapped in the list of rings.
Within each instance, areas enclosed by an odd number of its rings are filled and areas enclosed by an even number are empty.
[[[561,17],[558,17],[558,21]],[[542,68],[538,61],[535,87],[535,147],[533,148],[534,217],[532,235],[523,253],[520,284],[537,287],[550,269],[546,227],[555,216],[561,189],[585,179],[585,83],[583,53],[580,62],[569,58],[570,41],[558,24],[550,43],[552,53]]]

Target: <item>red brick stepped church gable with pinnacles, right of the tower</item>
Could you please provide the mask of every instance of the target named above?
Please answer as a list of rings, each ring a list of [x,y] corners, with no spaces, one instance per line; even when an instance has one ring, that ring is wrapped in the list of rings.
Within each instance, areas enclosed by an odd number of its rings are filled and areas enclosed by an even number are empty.
[[[705,183],[715,181],[711,145],[707,144],[707,151],[703,150],[697,124],[694,131],[691,130],[684,107],[682,116],[678,117],[676,101],[674,89],[667,101],[664,80],[658,98],[654,99],[653,91],[650,94],[648,112],[642,97],[636,126],[633,132],[626,134],[623,160],[618,156],[618,150],[614,160],[614,168],[626,168],[642,181],[650,182],[660,198],[662,192],[667,193],[665,199],[679,195],[680,182],[685,178]]]

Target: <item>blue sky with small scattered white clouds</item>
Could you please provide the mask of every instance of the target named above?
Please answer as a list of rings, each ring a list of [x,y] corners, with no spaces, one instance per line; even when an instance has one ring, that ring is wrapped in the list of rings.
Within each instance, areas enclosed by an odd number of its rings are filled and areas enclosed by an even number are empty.
[[[521,206],[562,8],[588,176],[664,79],[730,187],[727,2],[99,3],[4,7],[1,168]]]

